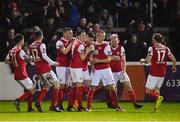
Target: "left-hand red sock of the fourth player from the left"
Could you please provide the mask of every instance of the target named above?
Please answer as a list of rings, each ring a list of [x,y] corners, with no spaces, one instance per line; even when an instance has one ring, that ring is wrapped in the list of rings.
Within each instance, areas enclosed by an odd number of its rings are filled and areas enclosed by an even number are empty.
[[[75,88],[69,88],[68,90],[68,106],[69,107],[73,107],[75,93],[76,93]]]

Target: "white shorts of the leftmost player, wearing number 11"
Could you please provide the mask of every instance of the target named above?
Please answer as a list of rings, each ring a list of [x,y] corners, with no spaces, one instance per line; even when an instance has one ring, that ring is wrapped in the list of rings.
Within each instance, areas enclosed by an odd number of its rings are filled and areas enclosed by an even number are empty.
[[[17,82],[20,83],[27,90],[33,89],[33,82],[29,77],[24,80],[17,80]]]

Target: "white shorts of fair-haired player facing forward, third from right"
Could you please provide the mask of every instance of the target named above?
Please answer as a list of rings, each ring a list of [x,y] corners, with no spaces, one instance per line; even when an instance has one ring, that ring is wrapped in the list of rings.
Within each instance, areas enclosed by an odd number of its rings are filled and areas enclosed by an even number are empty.
[[[92,86],[99,86],[100,81],[102,81],[103,86],[115,84],[110,68],[95,70],[95,72],[91,74],[91,80]]]

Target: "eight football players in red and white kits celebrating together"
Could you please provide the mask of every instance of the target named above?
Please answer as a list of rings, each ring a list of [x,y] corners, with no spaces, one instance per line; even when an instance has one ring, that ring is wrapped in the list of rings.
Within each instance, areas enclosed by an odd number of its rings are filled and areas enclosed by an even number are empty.
[[[117,96],[117,82],[120,81],[128,89],[128,95],[134,108],[140,109],[143,105],[136,102],[136,94],[132,88],[130,78],[126,73],[125,50],[120,45],[117,34],[110,36],[110,42],[105,41],[105,32],[86,33],[77,32],[73,37],[71,28],[64,28],[63,37],[56,42],[57,60],[51,60],[46,53],[43,33],[34,34],[34,42],[28,51],[22,49],[24,36],[15,36],[16,45],[9,51],[5,62],[14,69],[14,78],[24,88],[25,92],[13,100],[17,111],[20,111],[20,102],[27,100],[28,112],[33,112],[33,94],[35,88],[26,71],[26,62],[35,66],[36,73],[43,82],[43,88],[35,101],[35,107],[43,112],[41,104],[48,90],[52,88],[50,111],[65,111],[64,96],[67,95],[67,111],[91,111],[92,101],[96,91],[105,91],[107,105],[116,111],[125,111],[119,106]],[[168,57],[172,60],[172,71],[176,72],[176,59],[169,48],[161,44],[161,34],[155,33],[152,37],[153,46],[149,47],[146,59],[140,63],[151,63],[150,74],[146,82],[146,94],[155,101],[154,112],[158,111],[163,100],[160,87],[166,75]],[[51,66],[56,67],[56,73]],[[82,106],[83,96],[86,94],[86,107]]]

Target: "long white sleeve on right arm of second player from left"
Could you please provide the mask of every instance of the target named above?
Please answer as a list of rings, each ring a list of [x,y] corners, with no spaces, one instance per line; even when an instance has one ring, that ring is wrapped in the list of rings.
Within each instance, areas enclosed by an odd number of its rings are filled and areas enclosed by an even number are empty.
[[[47,61],[50,65],[53,65],[54,64],[54,61],[52,61],[46,54],[46,45],[45,44],[41,44],[40,45],[40,51],[41,51],[41,54],[42,54],[42,58]]]

